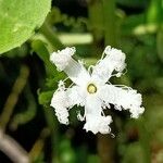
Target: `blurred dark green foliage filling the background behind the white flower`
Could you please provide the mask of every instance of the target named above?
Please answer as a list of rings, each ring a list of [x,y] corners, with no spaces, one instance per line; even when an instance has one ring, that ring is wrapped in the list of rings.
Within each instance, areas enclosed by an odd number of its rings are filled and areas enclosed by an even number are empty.
[[[77,14],[74,7],[82,12]],[[71,111],[71,125],[63,126],[49,106],[59,80],[66,77],[50,63],[49,53],[75,46],[75,58],[82,58],[89,65],[101,57],[106,43],[126,53],[127,74],[118,80],[142,93],[146,112],[135,121],[126,113],[113,111],[115,138],[111,141],[114,145],[105,141],[103,148],[114,148],[103,154],[113,152],[115,163],[163,162],[162,0],[53,1],[51,12],[35,36],[0,58],[1,113],[21,66],[25,64],[30,70],[7,131],[29,151],[32,162],[105,163],[100,154],[99,137],[86,134],[83,123],[74,116],[77,109]],[[50,134],[39,137],[45,127]],[[24,138],[22,133],[26,134]],[[3,155],[0,160],[8,162]]]

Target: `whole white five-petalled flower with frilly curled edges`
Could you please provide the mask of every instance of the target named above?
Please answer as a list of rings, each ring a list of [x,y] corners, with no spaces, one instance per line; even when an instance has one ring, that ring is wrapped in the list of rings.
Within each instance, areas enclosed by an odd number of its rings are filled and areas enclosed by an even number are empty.
[[[64,82],[60,82],[51,100],[60,123],[68,124],[68,110],[77,104],[85,108],[85,114],[78,113],[77,117],[86,121],[84,128],[87,131],[109,134],[112,117],[104,115],[103,110],[110,109],[110,104],[120,111],[129,110],[130,116],[135,118],[143,113],[140,93],[130,87],[109,83],[110,77],[123,74],[126,67],[125,53],[106,47],[101,60],[87,71],[80,61],[76,62],[72,58],[74,52],[75,48],[66,48],[50,57],[58,70],[64,71],[73,82],[68,88],[65,88]]]

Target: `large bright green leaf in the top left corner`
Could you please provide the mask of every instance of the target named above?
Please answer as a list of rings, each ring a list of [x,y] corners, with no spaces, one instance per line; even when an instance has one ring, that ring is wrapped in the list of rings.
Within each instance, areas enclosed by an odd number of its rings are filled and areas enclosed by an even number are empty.
[[[38,29],[51,0],[0,0],[0,53],[20,47]]]

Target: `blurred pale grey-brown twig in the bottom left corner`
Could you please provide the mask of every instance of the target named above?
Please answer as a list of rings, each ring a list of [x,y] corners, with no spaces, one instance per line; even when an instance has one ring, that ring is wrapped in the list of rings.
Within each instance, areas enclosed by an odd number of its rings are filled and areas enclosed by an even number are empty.
[[[0,150],[14,163],[29,163],[27,152],[9,135],[0,129]]]

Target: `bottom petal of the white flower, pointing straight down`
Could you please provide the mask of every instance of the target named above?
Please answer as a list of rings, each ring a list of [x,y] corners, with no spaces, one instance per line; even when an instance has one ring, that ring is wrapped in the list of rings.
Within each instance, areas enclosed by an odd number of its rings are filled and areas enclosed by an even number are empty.
[[[90,130],[93,134],[109,134],[111,131],[109,125],[112,122],[112,117],[110,115],[102,116],[101,110],[101,101],[95,96],[88,97],[85,105],[86,124],[84,125],[87,131]]]

